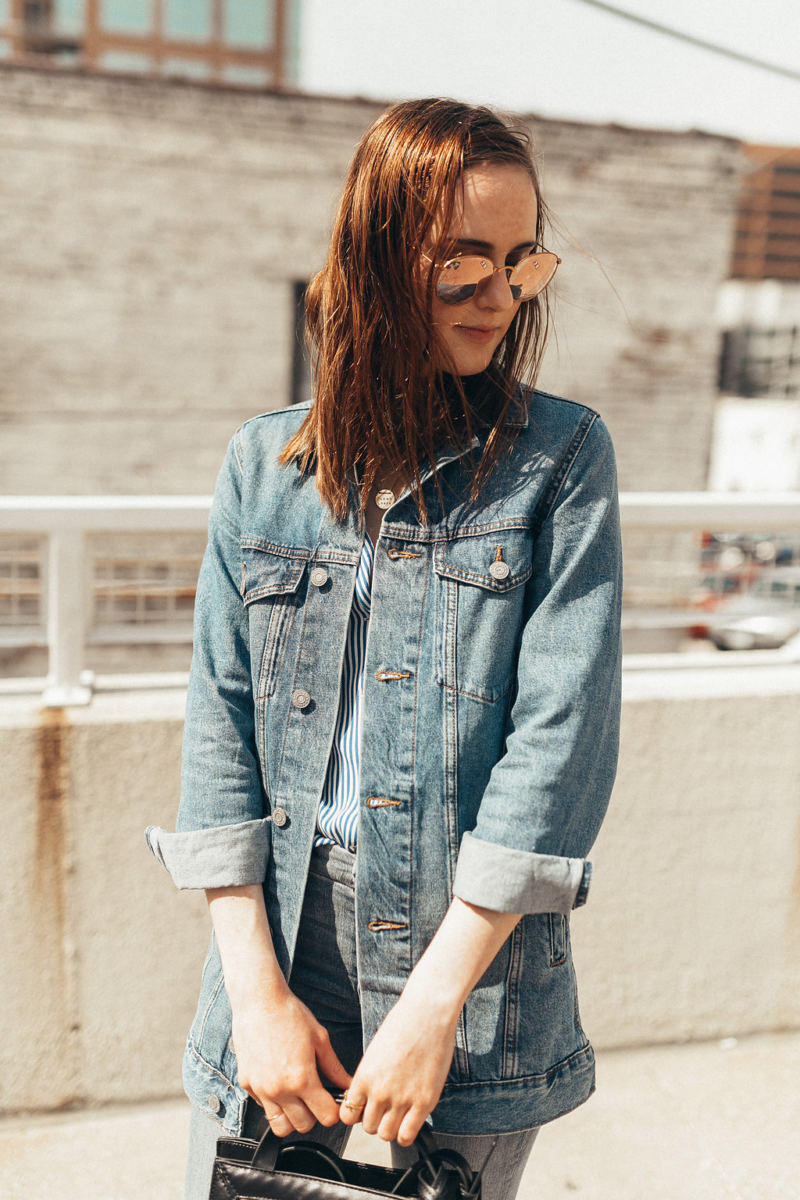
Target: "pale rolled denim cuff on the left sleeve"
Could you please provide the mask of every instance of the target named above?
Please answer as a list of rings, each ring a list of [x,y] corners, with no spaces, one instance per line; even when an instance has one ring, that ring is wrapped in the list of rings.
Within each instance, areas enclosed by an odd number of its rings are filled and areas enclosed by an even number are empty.
[[[150,850],[178,888],[231,888],[263,883],[270,852],[270,818],[167,833],[148,826]]]

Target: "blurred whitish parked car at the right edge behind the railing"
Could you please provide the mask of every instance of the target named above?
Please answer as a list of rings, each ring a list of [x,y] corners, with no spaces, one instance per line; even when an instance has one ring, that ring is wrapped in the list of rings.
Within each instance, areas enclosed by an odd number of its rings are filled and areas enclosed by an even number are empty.
[[[741,595],[721,605],[708,636],[721,650],[771,650],[800,634],[800,568],[760,572]]]

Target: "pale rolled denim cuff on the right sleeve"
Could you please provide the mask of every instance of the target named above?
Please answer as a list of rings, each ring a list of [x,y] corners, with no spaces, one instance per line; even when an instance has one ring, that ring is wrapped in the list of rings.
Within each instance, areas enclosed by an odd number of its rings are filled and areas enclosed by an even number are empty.
[[[587,902],[591,863],[583,858],[511,850],[465,833],[453,894],[497,912],[569,913]]]

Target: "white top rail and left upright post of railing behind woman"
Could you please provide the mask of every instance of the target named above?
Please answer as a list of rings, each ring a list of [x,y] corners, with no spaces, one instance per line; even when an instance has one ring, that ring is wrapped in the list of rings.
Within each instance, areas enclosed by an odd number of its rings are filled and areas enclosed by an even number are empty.
[[[201,533],[206,528],[210,504],[209,496],[0,497],[0,534],[38,535],[48,544],[46,706],[85,704],[91,698],[94,678],[85,670],[84,659],[89,607],[88,536],[98,533]],[[800,492],[627,492],[620,497],[620,505],[626,534],[655,529],[800,530]],[[748,662],[756,661],[752,653],[746,658]]]

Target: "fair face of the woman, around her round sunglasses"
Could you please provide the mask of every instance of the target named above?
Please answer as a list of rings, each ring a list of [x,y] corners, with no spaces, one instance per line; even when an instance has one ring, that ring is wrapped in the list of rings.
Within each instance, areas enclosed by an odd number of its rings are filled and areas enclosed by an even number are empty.
[[[534,185],[522,167],[487,163],[465,170],[445,258],[481,254],[495,266],[513,266],[536,246],[537,211]],[[426,266],[435,269],[429,262]],[[488,367],[523,302],[511,295],[505,271],[483,280],[462,304],[445,304],[434,293],[433,323],[457,374]]]

